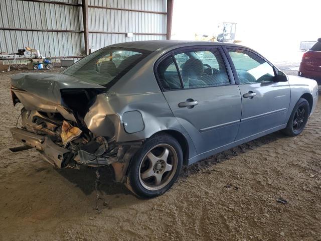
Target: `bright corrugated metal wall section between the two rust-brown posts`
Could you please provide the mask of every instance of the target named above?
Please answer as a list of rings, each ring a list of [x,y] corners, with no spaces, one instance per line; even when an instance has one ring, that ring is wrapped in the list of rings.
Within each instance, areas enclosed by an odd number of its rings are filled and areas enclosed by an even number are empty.
[[[89,48],[166,39],[165,0],[89,0],[88,5],[99,6],[89,7]],[[133,33],[133,37],[126,37],[126,33]]]

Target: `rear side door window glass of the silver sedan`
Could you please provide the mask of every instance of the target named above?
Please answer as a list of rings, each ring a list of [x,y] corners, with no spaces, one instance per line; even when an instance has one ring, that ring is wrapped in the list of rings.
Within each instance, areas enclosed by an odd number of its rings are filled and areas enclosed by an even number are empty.
[[[225,63],[217,48],[176,52],[174,58],[169,56],[158,64],[157,75],[164,90],[230,84]]]

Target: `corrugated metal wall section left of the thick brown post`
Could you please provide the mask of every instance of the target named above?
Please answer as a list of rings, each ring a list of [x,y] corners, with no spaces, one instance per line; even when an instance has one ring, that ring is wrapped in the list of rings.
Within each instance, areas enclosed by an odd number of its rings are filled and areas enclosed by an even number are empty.
[[[55,0],[57,1],[57,0]],[[60,0],[78,3],[78,0]],[[79,56],[84,49],[82,33],[1,30],[25,28],[82,31],[81,8],[48,3],[0,0],[0,49],[16,53],[26,46],[39,49],[44,56]],[[49,54],[50,52],[50,54]]]

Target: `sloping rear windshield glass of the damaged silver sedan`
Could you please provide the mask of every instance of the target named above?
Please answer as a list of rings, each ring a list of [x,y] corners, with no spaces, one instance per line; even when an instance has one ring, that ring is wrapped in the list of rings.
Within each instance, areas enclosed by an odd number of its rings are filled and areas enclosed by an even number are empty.
[[[149,53],[141,49],[107,47],[79,60],[62,74],[110,87]]]

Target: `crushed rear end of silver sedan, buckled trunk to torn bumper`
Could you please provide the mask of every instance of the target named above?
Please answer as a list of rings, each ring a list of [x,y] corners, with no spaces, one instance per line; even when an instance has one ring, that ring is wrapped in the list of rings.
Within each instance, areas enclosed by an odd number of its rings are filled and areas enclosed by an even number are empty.
[[[14,105],[24,106],[22,128],[10,130],[15,140],[37,149],[57,168],[112,165],[116,181],[124,181],[140,143],[117,143],[120,117],[95,112],[113,93],[63,74],[20,74],[11,85]],[[95,132],[101,125],[104,136]]]

